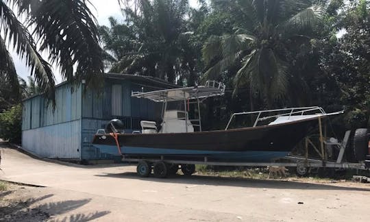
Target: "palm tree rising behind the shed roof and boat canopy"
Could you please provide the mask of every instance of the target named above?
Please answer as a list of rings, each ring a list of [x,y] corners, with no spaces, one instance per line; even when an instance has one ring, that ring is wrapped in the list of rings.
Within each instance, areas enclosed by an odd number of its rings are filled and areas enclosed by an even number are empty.
[[[110,28],[101,27],[105,49],[116,61],[111,71],[151,75],[169,82],[180,79],[184,70],[193,71],[185,61],[191,32],[186,29],[187,0],[141,0],[139,10],[126,7],[126,22],[110,18]]]

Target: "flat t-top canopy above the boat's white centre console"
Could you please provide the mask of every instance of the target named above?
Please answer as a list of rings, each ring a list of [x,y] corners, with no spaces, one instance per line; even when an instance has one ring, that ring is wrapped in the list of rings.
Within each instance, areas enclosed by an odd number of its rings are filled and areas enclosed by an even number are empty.
[[[150,99],[156,102],[182,101],[184,99],[202,99],[221,96],[225,93],[225,85],[220,82],[207,81],[204,86],[172,88],[147,93],[132,92],[132,97]]]

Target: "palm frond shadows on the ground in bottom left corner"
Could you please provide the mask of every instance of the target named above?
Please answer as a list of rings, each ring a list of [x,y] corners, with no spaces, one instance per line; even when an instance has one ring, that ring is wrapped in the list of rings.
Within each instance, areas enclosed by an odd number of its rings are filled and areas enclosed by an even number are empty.
[[[64,214],[88,204],[91,199],[38,204],[39,201],[52,197],[53,195],[44,195],[42,197],[25,200],[11,197],[7,198],[7,196],[13,192],[14,190],[8,190],[0,193],[0,221],[91,221],[110,213],[110,211],[96,211],[88,214],[71,214],[61,219],[53,219],[54,216]]]

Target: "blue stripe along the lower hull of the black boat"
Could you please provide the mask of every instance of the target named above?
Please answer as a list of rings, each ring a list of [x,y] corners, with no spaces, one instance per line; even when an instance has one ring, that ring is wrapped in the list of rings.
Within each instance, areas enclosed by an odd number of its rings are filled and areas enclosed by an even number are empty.
[[[101,153],[119,155],[116,146],[113,145],[93,145]],[[244,162],[270,162],[273,158],[282,158],[288,155],[287,151],[206,151],[191,149],[160,149],[148,147],[121,147],[123,154],[143,154],[143,155],[194,155],[208,156],[223,161],[244,161]]]

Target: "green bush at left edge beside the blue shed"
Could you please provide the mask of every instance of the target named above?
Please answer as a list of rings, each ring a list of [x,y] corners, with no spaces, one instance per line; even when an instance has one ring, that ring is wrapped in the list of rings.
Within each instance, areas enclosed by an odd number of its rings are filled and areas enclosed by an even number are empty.
[[[0,138],[12,143],[21,143],[22,106],[18,104],[0,113]]]

